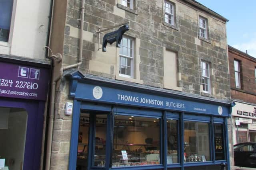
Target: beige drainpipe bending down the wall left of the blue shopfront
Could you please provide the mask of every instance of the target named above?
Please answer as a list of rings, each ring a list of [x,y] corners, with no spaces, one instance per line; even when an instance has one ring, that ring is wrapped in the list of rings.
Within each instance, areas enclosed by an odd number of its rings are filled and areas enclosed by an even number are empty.
[[[52,94],[50,103],[50,116],[49,116],[49,127],[48,127],[48,141],[47,141],[47,151],[46,151],[46,167],[45,170],[50,170],[51,154],[52,154],[52,137],[53,137],[53,125],[54,125],[54,106],[55,106],[55,93],[56,93],[56,82],[62,78],[64,70],[70,68],[78,67],[82,64],[82,52],[83,52],[83,31],[84,31],[84,1],[82,0],[81,7],[81,25],[80,25],[80,43],[79,43],[79,58],[76,64],[72,64],[66,67],[60,68],[60,74],[57,78],[52,80]],[[54,56],[54,55],[53,55]]]

